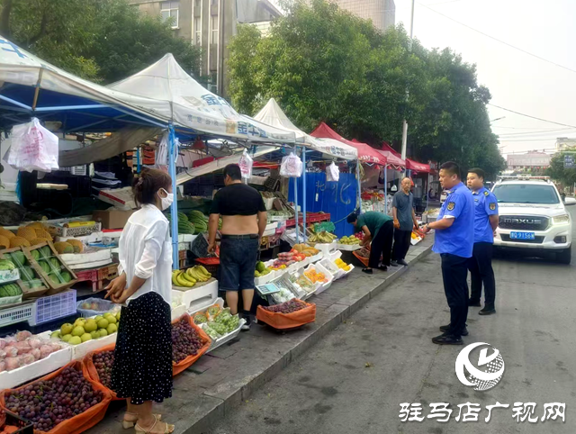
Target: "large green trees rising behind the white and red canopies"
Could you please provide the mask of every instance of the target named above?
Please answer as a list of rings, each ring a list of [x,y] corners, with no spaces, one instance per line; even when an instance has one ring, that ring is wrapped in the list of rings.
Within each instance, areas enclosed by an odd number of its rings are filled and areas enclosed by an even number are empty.
[[[486,110],[491,95],[473,65],[451,50],[410,46],[401,26],[378,32],[325,0],[284,10],[267,37],[243,26],[229,46],[238,110],[255,113],[275,97],[304,131],[324,121],[373,145],[399,144],[407,119],[411,157],[455,159],[491,177],[505,167]]]

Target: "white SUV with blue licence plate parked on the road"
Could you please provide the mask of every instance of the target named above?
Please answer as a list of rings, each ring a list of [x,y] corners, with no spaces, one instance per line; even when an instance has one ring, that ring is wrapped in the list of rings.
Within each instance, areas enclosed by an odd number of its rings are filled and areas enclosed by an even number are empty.
[[[500,222],[494,247],[531,251],[536,256],[553,252],[563,264],[572,259],[572,217],[550,179],[515,177],[500,179],[492,193],[498,199]]]

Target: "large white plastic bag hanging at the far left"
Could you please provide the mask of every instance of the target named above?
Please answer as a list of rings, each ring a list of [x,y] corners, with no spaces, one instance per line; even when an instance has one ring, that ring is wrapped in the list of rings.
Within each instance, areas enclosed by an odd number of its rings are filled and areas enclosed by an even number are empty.
[[[48,131],[37,118],[14,125],[11,146],[4,160],[18,170],[51,172],[58,170],[58,137]]]

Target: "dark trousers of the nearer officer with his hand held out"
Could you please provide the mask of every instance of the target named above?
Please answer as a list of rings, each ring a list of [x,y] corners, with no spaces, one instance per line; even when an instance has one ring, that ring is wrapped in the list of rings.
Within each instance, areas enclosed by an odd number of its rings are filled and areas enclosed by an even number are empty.
[[[460,338],[468,318],[468,262],[450,253],[442,253],[442,280],[444,292],[450,307],[450,330],[448,333]]]

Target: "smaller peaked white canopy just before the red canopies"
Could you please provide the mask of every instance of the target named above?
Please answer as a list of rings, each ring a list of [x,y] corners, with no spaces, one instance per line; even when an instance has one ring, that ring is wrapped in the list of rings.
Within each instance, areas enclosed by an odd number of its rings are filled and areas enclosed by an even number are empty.
[[[273,125],[277,128],[293,131],[298,140],[302,140],[306,148],[317,150],[323,154],[328,154],[330,157],[356,159],[358,158],[358,151],[352,146],[348,146],[338,140],[332,139],[317,139],[306,134],[304,131],[299,130],[293,122],[288,119],[286,113],[282,111],[280,105],[276,103],[274,98],[270,98],[266,105],[257,113],[254,118],[257,121],[265,122],[268,125]]]

